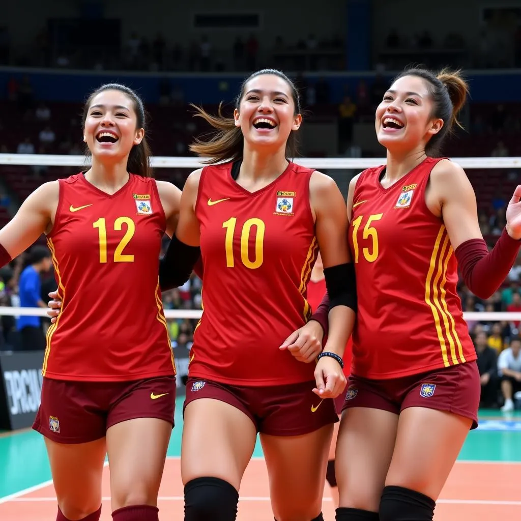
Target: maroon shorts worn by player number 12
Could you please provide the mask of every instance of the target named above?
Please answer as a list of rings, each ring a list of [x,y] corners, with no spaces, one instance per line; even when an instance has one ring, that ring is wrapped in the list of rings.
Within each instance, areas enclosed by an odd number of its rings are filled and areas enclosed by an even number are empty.
[[[175,376],[127,382],[44,378],[33,429],[58,443],[86,443],[134,418],[159,418],[173,427],[175,406]]]

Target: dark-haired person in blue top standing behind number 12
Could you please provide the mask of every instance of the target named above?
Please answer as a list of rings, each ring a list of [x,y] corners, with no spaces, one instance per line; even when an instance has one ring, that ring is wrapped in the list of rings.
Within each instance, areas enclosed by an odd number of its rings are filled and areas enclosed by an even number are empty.
[[[41,274],[52,266],[51,252],[45,246],[34,246],[30,252],[30,264],[20,275],[18,291],[20,307],[47,307],[41,297]],[[45,337],[40,317],[21,315],[16,324],[20,332],[20,350],[38,351],[45,349]]]

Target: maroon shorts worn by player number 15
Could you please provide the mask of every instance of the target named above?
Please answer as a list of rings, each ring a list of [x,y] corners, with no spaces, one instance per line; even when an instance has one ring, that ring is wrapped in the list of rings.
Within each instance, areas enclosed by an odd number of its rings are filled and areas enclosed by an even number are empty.
[[[347,389],[342,411],[370,407],[400,414],[407,407],[428,407],[471,418],[472,429],[478,426],[481,384],[476,362],[386,380],[351,375]]]

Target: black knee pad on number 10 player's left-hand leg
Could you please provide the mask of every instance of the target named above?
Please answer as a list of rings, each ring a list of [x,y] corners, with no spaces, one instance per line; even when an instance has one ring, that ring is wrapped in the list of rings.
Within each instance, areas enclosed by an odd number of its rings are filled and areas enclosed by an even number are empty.
[[[239,492],[219,478],[195,478],[184,486],[184,521],[235,521]]]

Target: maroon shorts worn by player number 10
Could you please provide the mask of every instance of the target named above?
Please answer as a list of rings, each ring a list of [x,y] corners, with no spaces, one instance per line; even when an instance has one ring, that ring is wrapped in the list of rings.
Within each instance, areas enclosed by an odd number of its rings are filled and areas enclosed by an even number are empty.
[[[334,401],[313,392],[315,381],[281,386],[232,386],[189,378],[184,409],[190,402],[210,398],[229,403],[248,416],[257,432],[271,436],[300,436],[338,421]]]

